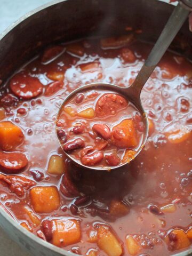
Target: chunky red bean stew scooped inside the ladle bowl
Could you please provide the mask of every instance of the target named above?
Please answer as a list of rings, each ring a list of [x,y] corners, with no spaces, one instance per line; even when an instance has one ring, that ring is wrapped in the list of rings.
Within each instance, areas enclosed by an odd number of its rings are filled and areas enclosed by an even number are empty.
[[[77,94],[62,107],[56,123],[63,150],[87,166],[110,169],[130,162],[142,143],[141,114],[113,91]]]

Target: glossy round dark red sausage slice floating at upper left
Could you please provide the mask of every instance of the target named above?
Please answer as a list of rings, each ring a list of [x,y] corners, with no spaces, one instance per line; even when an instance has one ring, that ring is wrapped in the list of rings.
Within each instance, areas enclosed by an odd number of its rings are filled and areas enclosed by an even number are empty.
[[[18,73],[11,78],[10,88],[12,92],[22,99],[32,99],[43,92],[43,85],[36,77]]]

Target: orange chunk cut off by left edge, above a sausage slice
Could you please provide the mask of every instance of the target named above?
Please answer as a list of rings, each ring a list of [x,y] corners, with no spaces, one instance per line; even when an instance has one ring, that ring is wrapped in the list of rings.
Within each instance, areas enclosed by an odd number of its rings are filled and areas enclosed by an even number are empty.
[[[2,150],[12,150],[23,141],[24,135],[19,126],[6,121],[0,122],[0,147]]]

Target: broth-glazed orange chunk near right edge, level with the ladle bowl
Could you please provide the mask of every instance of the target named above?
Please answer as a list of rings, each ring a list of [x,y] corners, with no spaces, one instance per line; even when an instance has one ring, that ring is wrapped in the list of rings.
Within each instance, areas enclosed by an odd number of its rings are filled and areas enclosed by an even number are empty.
[[[182,124],[175,123],[165,129],[167,139],[173,143],[181,143],[189,138],[190,129]]]

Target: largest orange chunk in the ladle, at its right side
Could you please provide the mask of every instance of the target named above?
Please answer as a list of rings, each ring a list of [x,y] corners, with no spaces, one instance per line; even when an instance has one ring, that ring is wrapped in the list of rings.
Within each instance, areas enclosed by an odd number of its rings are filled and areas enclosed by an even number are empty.
[[[119,148],[137,147],[138,136],[132,119],[124,119],[113,127],[111,143]]]

